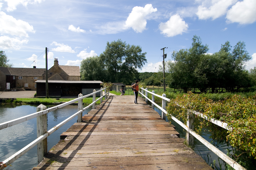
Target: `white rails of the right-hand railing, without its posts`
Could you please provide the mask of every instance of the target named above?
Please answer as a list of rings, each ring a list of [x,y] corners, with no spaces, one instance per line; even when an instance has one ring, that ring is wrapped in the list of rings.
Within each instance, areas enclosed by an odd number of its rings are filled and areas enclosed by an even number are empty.
[[[142,90],[146,91],[146,92],[149,92],[148,90],[146,89],[143,89],[141,88]],[[155,93],[152,93],[152,92],[149,92],[151,93],[152,95],[155,95],[155,96],[158,96],[162,99],[164,99],[165,97],[163,96],[160,96],[160,95],[156,95]],[[147,100],[149,100],[151,103],[154,104],[154,106],[158,107],[162,112],[164,112],[165,114],[167,114],[167,111],[158,106],[154,101],[150,100],[148,98],[148,96],[144,95],[142,92],[140,92],[140,94],[142,96],[144,96]],[[168,98],[167,98],[168,99]],[[165,99],[164,99],[165,100]],[[168,99],[167,101],[170,101],[170,99]],[[199,112],[196,112],[196,111],[193,111],[194,114],[208,120],[208,117],[199,113]],[[177,118],[175,118],[174,116],[171,115],[171,118],[172,120],[174,120],[176,123],[178,123],[182,128],[184,128],[185,130],[187,130],[188,133],[190,133],[191,135],[193,135],[194,137],[196,137],[196,139],[198,139],[202,144],[204,144],[207,148],[209,148],[213,153],[215,153],[217,156],[219,156],[222,160],[224,160],[228,165],[230,165],[231,167],[233,167],[235,170],[246,170],[243,166],[241,166],[240,164],[238,164],[235,160],[231,159],[230,157],[228,157],[225,153],[221,152],[218,148],[216,148],[214,145],[212,145],[210,142],[208,142],[207,140],[205,140],[203,137],[201,137],[200,135],[198,135],[194,130],[190,129],[187,125],[185,125],[184,123],[182,123],[181,121],[179,121]],[[232,130],[232,128],[228,127],[224,122],[221,122],[219,120],[216,120],[216,119],[210,119],[208,120],[209,122],[212,122],[224,129],[227,129],[227,130]]]

